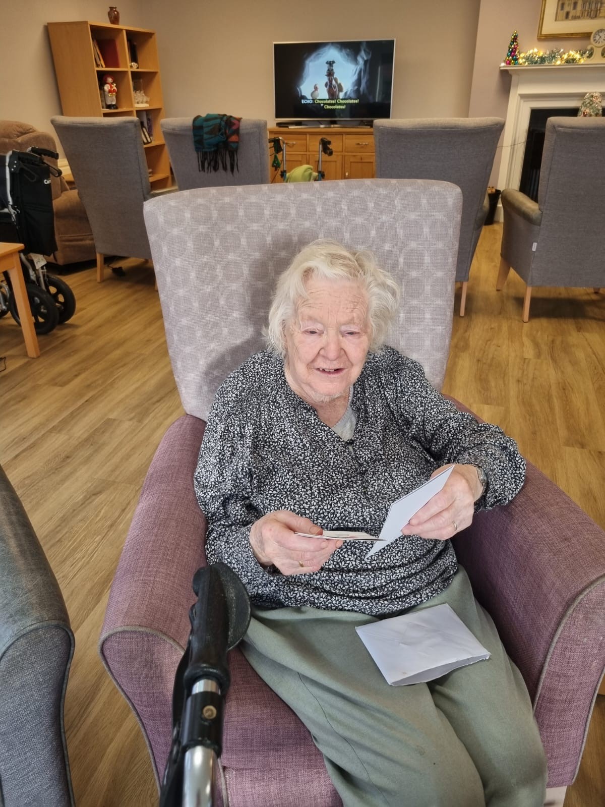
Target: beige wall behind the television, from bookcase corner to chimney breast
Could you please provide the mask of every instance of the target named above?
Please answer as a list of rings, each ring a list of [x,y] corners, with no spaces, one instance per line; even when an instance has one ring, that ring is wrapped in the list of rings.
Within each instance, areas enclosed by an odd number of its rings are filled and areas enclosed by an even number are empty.
[[[273,123],[273,40],[330,37],[397,40],[394,117],[468,113],[479,0],[152,0],[150,10],[167,115]]]

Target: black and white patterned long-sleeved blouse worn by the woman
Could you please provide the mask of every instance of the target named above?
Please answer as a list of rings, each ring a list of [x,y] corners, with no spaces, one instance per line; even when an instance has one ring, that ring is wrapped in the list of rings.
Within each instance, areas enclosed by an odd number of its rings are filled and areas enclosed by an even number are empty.
[[[345,442],[290,388],[282,359],[266,351],[216,393],[194,487],[208,521],[208,561],[232,567],[254,604],[379,616],[430,600],[457,569],[450,541],[402,536],[368,560],[367,543],[345,541],[317,572],[271,573],[249,541],[265,513],[290,510],[323,529],[378,535],[390,504],[446,463],[486,471],[476,508],[507,504],[524,483],[515,441],[459,412],[393,348],[369,354],[350,405],[357,422]]]

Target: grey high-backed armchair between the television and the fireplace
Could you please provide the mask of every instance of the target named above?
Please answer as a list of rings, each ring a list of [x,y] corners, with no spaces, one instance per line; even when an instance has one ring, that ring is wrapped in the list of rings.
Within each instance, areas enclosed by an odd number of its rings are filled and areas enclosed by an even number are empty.
[[[462,283],[460,316],[483,222],[489,209],[487,184],[504,127],[501,118],[377,120],[376,176],[438,179],[462,191],[462,221],[456,282]]]

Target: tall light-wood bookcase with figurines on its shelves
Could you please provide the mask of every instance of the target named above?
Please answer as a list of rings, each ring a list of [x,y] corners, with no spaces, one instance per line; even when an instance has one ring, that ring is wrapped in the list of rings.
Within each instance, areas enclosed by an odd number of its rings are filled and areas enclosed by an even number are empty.
[[[133,117],[144,111],[152,123],[152,143],[145,144],[145,157],[151,170],[149,181],[156,189],[172,184],[168,150],[162,137],[160,121],[164,117],[164,99],[157,59],[155,31],[130,28],[109,23],[48,23],[48,36],[55,62],[56,82],[59,86],[64,115],[106,117],[126,115]],[[117,63],[98,67],[94,58],[93,40],[105,43],[111,40],[111,51]],[[129,42],[136,48],[137,67],[131,67]],[[118,108],[103,109],[99,82],[111,73],[118,88]],[[135,107],[133,82],[149,97],[148,107]]]

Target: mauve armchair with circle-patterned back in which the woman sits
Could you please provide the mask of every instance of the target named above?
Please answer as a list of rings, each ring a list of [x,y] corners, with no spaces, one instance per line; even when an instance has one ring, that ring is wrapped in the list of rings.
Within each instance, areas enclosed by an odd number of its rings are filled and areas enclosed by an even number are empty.
[[[193,474],[216,387],[261,349],[277,275],[303,245],[330,236],[373,249],[401,282],[390,343],[422,362],[439,389],[452,328],[461,192],[448,183],[403,180],[215,188],[155,199],[144,214],[187,414],[169,428],[148,471],[100,652],[140,721],[159,779],[171,738],[174,671],[189,633],[191,580],[205,562],[206,524]],[[532,466],[509,507],[478,516],[457,538],[478,599],[536,705],[550,788],[574,780],[603,672],[603,538]],[[340,805],[298,718],[237,649],[231,667],[223,803],[228,795],[232,807]],[[562,804],[562,790],[550,796]]]

